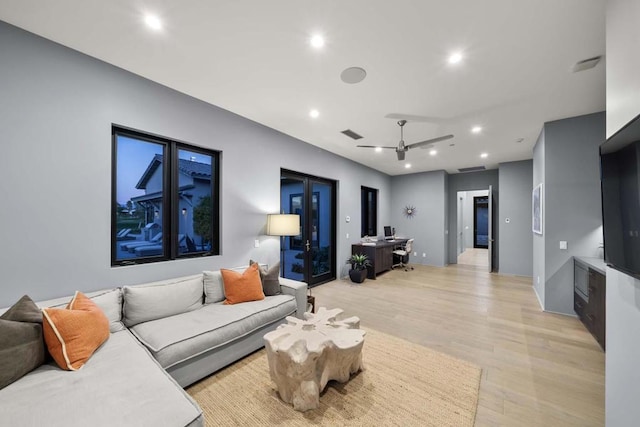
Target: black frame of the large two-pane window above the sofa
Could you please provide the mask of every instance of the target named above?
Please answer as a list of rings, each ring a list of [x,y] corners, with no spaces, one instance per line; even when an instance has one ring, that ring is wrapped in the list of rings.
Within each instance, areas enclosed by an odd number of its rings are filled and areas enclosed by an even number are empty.
[[[128,259],[117,259],[117,170],[118,170],[118,136],[148,141],[163,146],[164,161],[163,184],[162,184],[162,246],[163,255],[146,256]],[[147,264],[153,262],[165,262],[184,258],[197,258],[204,256],[220,255],[220,158],[222,153],[217,150],[198,147],[176,139],[167,138],[127,128],[124,126],[112,125],[111,127],[111,266],[127,266],[136,264]],[[213,236],[209,250],[197,252],[179,253],[179,179],[178,179],[178,152],[187,150],[203,155],[211,156],[211,202],[212,202],[212,222]],[[168,230],[169,232],[166,232]]]

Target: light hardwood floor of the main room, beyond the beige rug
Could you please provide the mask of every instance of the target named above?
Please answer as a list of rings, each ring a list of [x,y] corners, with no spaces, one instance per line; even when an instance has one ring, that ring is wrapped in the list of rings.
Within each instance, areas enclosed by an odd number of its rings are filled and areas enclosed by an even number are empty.
[[[316,286],[316,307],[482,367],[476,426],[604,425],[604,353],[576,318],[540,309],[531,278],[414,267]]]

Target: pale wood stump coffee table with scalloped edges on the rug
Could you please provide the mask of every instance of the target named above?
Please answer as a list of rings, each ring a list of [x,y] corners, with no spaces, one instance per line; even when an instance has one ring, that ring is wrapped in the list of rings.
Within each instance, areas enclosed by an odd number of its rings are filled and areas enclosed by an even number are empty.
[[[298,411],[317,408],[327,382],[347,382],[363,369],[365,331],[360,319],[337,320],[341,309],[320,307],[305,320],[287,317],[286,324],[264,336],[269,374],[280,398]]]

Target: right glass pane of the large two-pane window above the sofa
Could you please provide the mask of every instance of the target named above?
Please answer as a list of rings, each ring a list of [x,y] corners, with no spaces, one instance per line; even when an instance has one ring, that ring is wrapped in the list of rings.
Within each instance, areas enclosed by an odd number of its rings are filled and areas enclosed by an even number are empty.
[[[178,150],[178,254],[212,249],[212,160],[208,154]]]

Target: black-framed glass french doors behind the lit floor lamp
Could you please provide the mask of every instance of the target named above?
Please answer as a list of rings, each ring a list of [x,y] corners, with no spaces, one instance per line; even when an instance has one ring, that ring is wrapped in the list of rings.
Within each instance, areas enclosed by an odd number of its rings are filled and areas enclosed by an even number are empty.
[[[309,286],[336,278],[335,181],[282,170],[280,210],[300,215],[300,234],[285,237],[283,276]]]

